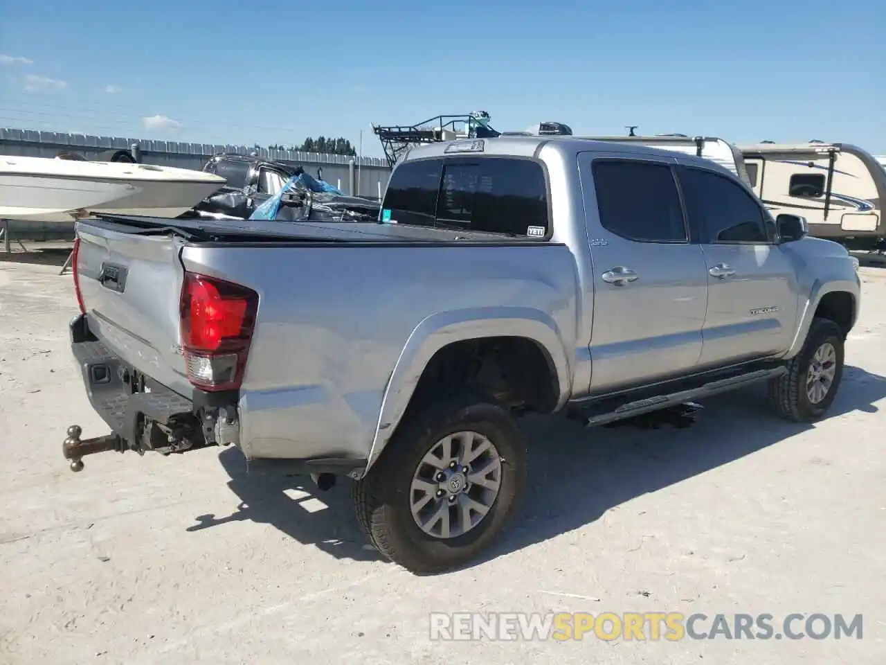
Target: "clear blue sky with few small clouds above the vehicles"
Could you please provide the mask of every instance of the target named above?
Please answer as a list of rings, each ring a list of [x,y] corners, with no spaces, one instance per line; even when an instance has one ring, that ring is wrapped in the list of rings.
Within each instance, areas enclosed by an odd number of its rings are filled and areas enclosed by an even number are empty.
[[[886,154],[882,0],[4,3],[0,126],[205,143],[491,113],[496,129]]]

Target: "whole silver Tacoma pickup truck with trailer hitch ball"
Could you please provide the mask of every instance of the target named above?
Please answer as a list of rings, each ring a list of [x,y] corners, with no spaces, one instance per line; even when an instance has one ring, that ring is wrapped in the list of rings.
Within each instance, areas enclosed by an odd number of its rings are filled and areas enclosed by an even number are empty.
[[[574,137],[415,149],[377,223],[90,218],[75,254],[72,348],[111,429],[68,429],[75,471],[236,446],[346,477],[416,573],[505,527],[520,414],[602,425],[767,381],[778,414],[819,419],[859,311],[843,247],[726,169]]]

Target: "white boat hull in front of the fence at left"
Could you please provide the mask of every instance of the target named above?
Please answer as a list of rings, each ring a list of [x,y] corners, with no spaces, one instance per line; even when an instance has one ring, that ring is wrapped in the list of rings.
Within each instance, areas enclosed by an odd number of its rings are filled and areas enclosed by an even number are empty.
[[[51,168],[58,172],[48,172]],[[0,219],[70,222],[90,213],[176,217],[223,184],[223,178],[185,168],[4,157]]]

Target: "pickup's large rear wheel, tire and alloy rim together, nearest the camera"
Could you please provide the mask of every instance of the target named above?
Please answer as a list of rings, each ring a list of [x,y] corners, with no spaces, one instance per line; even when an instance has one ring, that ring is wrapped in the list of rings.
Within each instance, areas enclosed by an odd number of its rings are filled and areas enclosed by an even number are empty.
[[[485,395],[423,407],[354,485],[357,518],[387,559],[439,573],[475,559],[525,490],[526,450],[509,411]]]

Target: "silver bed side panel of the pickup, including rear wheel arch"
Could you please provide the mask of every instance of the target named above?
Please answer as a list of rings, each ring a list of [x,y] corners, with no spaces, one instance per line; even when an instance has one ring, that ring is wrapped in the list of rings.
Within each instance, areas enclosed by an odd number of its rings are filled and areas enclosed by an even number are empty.
[[[260,296],[240,397],[247,458],[369,458],[427,360],[470,337],[540,338],[568,395],[565,246],[187,246],[183,262]]]

